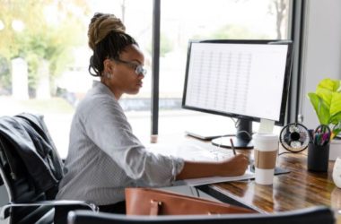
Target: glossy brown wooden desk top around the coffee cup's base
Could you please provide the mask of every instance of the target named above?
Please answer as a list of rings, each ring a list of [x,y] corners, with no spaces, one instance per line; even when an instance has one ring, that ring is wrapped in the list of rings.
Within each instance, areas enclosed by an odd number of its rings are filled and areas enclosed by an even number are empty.
[[[315,205],[341,209],[341,189],[331,177],[334,162],[329,162],[328,173],[307,171],[307,156],[303,154],[283,154],[277,164],[291,172],[275,176],[273,185],[257,185],[249,180],[208,185],[202,190],[223,202],[232,199],[264,213]]]

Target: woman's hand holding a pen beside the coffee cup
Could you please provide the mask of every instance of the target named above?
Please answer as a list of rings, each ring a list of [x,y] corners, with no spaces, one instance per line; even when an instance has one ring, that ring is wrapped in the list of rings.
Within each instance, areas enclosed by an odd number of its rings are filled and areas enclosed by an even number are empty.
[[[232,158],[225,159],[219,162],[220,170],[219,176],[222,177],[231,177],[231,176],[240,176],[245,173],[246,168],[249,165],[249,159],[242,155],[238,154]]]

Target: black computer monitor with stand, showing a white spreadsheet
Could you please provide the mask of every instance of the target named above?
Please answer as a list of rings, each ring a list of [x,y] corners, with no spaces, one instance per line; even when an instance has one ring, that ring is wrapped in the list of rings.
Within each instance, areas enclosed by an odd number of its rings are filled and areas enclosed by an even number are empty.
[[[189,40],[182,108],[238,118],[234,146],[252,149],[252,121],[284,125],[292,56],[290,40]]]

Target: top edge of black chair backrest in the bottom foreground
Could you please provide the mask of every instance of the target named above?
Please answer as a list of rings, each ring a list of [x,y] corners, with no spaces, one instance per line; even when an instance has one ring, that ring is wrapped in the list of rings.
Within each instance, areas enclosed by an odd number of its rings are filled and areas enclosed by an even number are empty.
[[[188,216],[126,216],[89,211],[70,211],[68,224],[332,224],[334,212],[327,207],[312,207],[275,214],[224,214]]]

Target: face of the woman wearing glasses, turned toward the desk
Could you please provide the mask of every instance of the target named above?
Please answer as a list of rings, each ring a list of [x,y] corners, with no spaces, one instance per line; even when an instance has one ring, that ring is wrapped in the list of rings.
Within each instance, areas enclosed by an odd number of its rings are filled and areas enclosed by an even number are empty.
[[[109,86],[116,99],[123,93],[138,93],[144,79],[144,73],[139,71],[141,69],[139,65],[144,65],[144,54],[136,45],[127,46],[119,55],[119,60],[110,60],[107,73],[111,75],[109,78],[104,75],[104,83]]]

